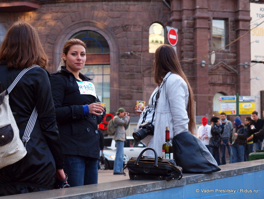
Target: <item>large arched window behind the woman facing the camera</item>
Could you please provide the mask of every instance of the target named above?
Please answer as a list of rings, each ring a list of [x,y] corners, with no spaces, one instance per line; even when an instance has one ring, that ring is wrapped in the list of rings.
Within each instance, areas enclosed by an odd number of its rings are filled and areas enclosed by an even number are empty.
[[[81,73],[93,79],[96,94],[101,102],[106,103],[106,113],[110,111],[110,49],[106,39],[95,31],[80,31],[72,38],[86,43],[85,66]]]

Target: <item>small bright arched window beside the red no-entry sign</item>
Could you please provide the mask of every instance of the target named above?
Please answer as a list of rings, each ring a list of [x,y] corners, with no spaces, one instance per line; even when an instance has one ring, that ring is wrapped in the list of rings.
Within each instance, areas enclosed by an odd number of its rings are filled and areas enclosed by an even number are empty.
[[[158,23],[149,27],[149,53],[155,53],[156,49],[164,44],[164,28]]]

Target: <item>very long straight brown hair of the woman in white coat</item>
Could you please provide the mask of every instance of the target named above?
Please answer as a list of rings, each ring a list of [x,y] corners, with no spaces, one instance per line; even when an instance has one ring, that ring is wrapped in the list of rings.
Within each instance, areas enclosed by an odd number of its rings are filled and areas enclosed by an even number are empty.
[[[174,48],[170,45],[161,45],[157,48],[155,52],[155,60],[153,63],[152,73],[154,73],[154,81],[158,86],[160,86],[163,78],[168,72],[175,73],[182,77],[187,83],[189,90],[188,98],[188,118],[189,118],[189,131],[192,134],[195,134],[195,115],[194,115],[194,94],[192,87],[187,80],[184,72],[182,71],[181,64],[179,62],[178,56]],[[182,106],[182,105],[180,105]]]

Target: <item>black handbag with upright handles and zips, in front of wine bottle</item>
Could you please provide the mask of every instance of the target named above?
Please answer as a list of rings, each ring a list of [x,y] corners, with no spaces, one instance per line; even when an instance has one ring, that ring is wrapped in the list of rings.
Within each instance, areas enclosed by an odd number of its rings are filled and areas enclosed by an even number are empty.
[[[146,150],[153,150],[155,158],[143,156]],[[175,160],[158,156],[154,148],[145,148],[138,157],[132,157],[123,168],[125,176],[126,168],[130,179],[180,180],[182,178],[182,168],[176,166]]]

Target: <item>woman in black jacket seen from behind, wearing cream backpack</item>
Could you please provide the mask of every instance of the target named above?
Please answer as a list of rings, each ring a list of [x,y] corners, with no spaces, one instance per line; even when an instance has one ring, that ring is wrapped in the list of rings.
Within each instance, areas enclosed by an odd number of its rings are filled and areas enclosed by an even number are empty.
[[[34,107],[38,117],[26,144],[27,154],[16,163],[0,169],[0,196],[51,190],[57,178],[65,180],[63,157],[55,121],[48,57],[35,29],[24,21],[7,31],[0,49],[0,81],[7,89],[18,73],[33,64],[9,94],[9,104],[22,138]]]

